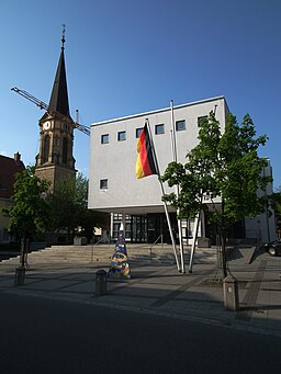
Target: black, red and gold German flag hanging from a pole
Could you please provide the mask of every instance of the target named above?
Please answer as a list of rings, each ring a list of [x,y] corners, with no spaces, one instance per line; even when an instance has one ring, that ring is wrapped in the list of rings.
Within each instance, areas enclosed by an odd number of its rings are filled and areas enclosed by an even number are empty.
[[[145,124],[140,133],[136,150],[138,152],[136,160],[136,178],[140,179],[151,174],[158,174],[147,124]]]

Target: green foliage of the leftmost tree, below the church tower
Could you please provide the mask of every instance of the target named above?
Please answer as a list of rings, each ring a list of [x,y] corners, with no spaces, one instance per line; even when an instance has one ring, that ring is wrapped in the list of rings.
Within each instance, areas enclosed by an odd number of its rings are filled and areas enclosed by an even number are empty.
[[[10,216],[9,230],[21,238],[34,238],[49,224],[49,207],[45,201],[49,182],[35,175],[35,168],[27,167],[18,173],[14,183],[13,205],[3,211]]]

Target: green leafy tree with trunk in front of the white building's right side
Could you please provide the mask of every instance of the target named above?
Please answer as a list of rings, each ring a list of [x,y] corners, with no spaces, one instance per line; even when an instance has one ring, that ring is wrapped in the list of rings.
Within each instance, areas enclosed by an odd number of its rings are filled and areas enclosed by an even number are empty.
[[[225,239],[227,228],[245,216],[254,218],[265,212],[265,196],[257,195],[270,181],[261,174],[267,161],[258,157],[258,148],[267,137],[255,138],[256,129],[250,116],[241,125],[231,113],[222,134],[213,112],[201,122],[199,144],[187,155],[187,163],[168,165],[162,180],[171,188],[179,185],[179,194],[170,193],[164,200],[179,209],[179,217],[192,218],[201,211],[209,211],[210,199],[215,211],[209,212],[220,227],[223,272],[227,275]],[[220,201],[214,204],[214,201]]]

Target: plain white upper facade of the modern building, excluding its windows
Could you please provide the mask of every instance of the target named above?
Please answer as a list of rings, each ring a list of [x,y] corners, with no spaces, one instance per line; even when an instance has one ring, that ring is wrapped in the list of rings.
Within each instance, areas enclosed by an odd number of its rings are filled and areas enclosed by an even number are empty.
[[[173,107],[175,122],[186,122],[186,129],[176,132],[178,161],[183,162],[187,151],[198,144],[198,118],[207,115],[215,107],[216,117],[224,129],[227,104],[223,97]],[[89,208],[123,214],[164,212],[157,177],[150,175],[142,180],[135,177],[136,131],[144,127],[146,118],[149,120],[151,127],[160,173],[164,173],[168,163],[172,161],[169,107],[92,124]],[[164,125],[164,134],[155,134],[157,125]],[[117,136],[121,132],[125,132],[125,140],[119,141]],[[106,144],[101,143],[104,135],[109,136]],[[108,181],[108,188],[100,188],[102,180]],[[167,186],[165,190],[169,191]]]

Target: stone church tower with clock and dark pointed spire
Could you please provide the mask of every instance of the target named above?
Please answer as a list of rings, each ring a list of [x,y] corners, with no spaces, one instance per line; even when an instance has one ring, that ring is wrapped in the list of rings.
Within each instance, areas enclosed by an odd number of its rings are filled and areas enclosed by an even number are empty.
[[[49,99],[49,111],[40,120],[40,152],[36,156],[35,173],[50,181],[50,191],[59,182],[75,178],[74,129],[69,114],[65,67],[65,30],[56,77]]]

